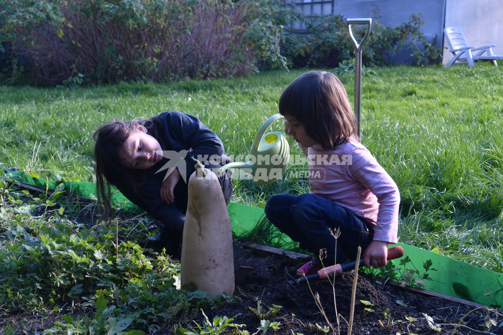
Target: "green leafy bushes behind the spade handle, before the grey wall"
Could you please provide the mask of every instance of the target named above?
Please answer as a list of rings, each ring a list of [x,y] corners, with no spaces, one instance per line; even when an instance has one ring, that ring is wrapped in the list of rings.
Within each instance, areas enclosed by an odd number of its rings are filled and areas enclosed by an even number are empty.
[[[363,64],[384,65],[389,55],[403,47],[410,49],[417,64],[435,61],[440,55],[442,49],[429,43],[421,32],[421,27],[424,26],[421,13],[412,14],[408,22],[394,28],[380,23],[377,7],[374,7],[371,16],[375,19],[372,20],[371,33],[365,41]],[[289,65],[297,68],[333,68],[339,63],[354,59],[355,47],[348,34],[347,19],[344,15],[301,18],[306,27],[305,33],[283,34],[282,54]],[[366,29],[366,26],[352,27],[358,41],[364,36]]]

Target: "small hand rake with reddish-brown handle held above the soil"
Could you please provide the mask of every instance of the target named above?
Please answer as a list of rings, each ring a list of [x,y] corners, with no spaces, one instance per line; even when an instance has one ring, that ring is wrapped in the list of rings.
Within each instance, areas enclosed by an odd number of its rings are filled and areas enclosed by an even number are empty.
[[[392,260],[396,258],[400,258],[403,256],[403,249],[400,246],[396,246],[393,248],[388,249],[388,257],[387,260]],[[360,260],[360,265],[363,265],[363,258]],[[289,273],[288,270],[285,268],[285,281],[286,281],[286,295],[288,299],[290,299],[292,302],[295,304],[299,305],[299,299],[298,299],[298,293],[299,293],[299,287],[301,283],[304,283],[306,281],[310,280],[318,280],[318,279],[325,279],[328,277],[334,277],[336,275],[340,275],[343,272],[350,271],[355,268],[356,261],[353,262],[348,262],[344,264],[336,264],[332,266],[328,266],[326,268],[323,268],[319,270],[318,272],[309,275],[309,276],[304,276],[301,278],[293,278]]]

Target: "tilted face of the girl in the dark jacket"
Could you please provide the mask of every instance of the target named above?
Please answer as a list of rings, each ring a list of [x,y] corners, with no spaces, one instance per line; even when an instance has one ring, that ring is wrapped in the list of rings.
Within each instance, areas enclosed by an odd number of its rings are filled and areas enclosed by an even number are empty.
[[[162,159],[159,142],[147,134],[147,129],[138,126],[138,131],[131,134],[124,146],[122,165],[130,169],[148,169]]]

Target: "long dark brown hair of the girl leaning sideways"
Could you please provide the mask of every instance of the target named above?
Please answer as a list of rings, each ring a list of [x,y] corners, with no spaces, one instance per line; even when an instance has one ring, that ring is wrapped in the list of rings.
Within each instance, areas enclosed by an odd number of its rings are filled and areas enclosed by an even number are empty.
[[[124,122],[114,120],[112,123],[103,125],[93,134],[95,140],[95,174],[96,193],[100,211],[107,219],[112,213],[111,186],[131,187],[136,191],[137,187],[144,181],[143,170],[129,169],[122,165],[123,153],[127,148],[126,140],[129,136],[138,131],[138,126],[147,129],[147,134],[151,135],[161,144],[159,130],[161,126],[158,117],[145,120],[133,120]]]

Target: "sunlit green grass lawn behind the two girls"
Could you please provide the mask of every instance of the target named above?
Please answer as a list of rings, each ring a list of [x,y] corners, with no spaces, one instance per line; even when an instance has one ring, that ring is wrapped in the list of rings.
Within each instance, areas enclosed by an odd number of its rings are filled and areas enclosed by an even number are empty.
[[[373,70],[377,75],[362,82],[362,142],[400,189],[400,242],[503,272],[503,70]],[[165,110],[199,117],[227,154],[247,154],[262,122],[277,113],[282,90],[301,73],[76,89],[1,86],[0,167],[92,181],[98,126]],[[341,79],[353,101],[353,74]],[[233,201],[264,207],[286,191],[307,192],[308,183],[238,181]]]

